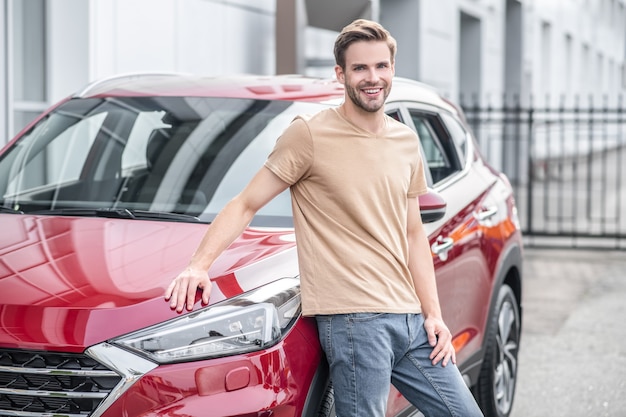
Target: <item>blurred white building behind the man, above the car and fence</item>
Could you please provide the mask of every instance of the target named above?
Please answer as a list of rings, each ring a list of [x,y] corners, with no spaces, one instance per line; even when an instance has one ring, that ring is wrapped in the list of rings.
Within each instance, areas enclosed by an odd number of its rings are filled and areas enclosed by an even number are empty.
[[[397,38],[396,73],[500,100],[626,92],[626,0],[0,0],[0,146],[116,74],[332,76],[357,17]]]

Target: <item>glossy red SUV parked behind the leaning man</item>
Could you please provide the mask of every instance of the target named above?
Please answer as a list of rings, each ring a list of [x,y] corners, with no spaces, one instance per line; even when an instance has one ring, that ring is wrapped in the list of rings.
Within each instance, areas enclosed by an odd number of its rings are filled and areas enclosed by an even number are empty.
[[[0,416],[334,415],[300,314],[288,194],[212,266],[208,306],[163,299],[207,224],[297,114],[342,86],[298,76],[133,75],[88,86],[0,153]],[[522,241],[511,187],[462,112],[396,79],[387,113],[415,129],[420,199],[459,368],[487,416],[511,411]],[[418,411],[393,390],[388,416]]]

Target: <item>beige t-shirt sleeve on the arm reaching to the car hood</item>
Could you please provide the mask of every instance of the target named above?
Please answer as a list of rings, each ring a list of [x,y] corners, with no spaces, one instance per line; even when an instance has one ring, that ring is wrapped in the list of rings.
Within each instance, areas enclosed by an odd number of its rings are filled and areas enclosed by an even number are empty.
[[[293,185],[309,171],[313,161],[313,141],[307,123],[297,117],[276,141],[265,166],[281,180]]]

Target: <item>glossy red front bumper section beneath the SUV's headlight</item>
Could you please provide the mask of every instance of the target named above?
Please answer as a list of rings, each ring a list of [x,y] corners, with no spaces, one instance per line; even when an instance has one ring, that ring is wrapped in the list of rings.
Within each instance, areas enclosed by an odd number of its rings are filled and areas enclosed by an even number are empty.
[[[264,351],[160,366],[124,393],[104,417],[299,416],[316,371],[311,363],[320,359],[315,324],[301,320],[282,342]],[[248,383],[229,389],[229,376],[242,369]]]

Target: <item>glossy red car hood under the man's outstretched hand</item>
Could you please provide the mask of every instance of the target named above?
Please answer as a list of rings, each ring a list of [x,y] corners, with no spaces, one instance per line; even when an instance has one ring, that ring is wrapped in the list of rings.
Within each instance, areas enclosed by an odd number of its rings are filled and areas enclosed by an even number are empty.
[[[0,215],[0,346],[81,352],[176,316],[165,288],[206,228]],[[297,271],[291,230],[249,229],[209,271],[210,303]]]

